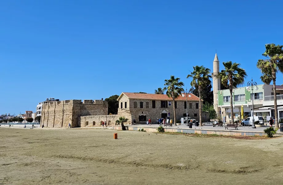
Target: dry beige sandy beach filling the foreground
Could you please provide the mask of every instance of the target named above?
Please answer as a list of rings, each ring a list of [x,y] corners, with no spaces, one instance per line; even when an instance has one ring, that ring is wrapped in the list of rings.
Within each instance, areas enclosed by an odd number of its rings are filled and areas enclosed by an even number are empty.
[[[0,184],[282,185],[282,146],[282,137],[0,128]]]

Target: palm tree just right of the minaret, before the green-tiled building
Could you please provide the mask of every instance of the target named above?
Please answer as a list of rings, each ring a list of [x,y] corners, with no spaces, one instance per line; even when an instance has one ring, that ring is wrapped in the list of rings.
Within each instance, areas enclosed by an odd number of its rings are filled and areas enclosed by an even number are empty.
[[[230,108],[231,108],[231,122],[234,124],[234,112],[233,112],[233,89],[239,85],[244,84],[247,73],[245,69],[240,67],[238,63],[232,63],[231,61],[223,62],[224,70],[221,70],[218,77],[221,79],[221,83],[229,87],[230,90]]]

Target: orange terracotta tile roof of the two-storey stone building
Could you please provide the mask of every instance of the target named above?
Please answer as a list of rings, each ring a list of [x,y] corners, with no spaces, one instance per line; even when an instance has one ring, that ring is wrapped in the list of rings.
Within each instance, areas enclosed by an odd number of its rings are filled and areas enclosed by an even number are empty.
[[[122,94],[125,94],[130,99],[169,100],[169,101],[172,100],[172,98],[169,98],[166,94],[144,94],[144,93],[126,93],[126,92],[123,92]],[[186,101],[186,96],[185,97],[179,96],[175,100]],[[199,101],[199,98],[191,93],[190,98],[188,94],[188,101]]]

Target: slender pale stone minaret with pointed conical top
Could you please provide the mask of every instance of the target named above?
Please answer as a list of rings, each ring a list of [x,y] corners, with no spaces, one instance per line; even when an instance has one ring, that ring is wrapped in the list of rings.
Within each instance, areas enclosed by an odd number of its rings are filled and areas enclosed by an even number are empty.
[[[218,91],[220,90],[220,79],[217,77],[218,74],[219,74],[219,60],[217,57],[217,53],[215,53],[215,57],[213,60],[212,84],[213,84],[213,107],[217,115],[219,115],[217,98],[218,98]]]

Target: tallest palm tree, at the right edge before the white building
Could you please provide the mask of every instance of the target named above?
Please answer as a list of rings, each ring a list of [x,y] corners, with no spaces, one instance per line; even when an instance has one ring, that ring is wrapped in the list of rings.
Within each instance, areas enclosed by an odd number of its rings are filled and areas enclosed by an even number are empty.
[[[277,113],[277,97],[276,97],[276,73],[283,72],[283,45],[265,44],[265,52],[262,56],[267,57],[265,60],[257,61],[257,68],[261,70],[261,81],[270,84],[273,81],[274,96],[274,116],[275,128],[279,128]]]

